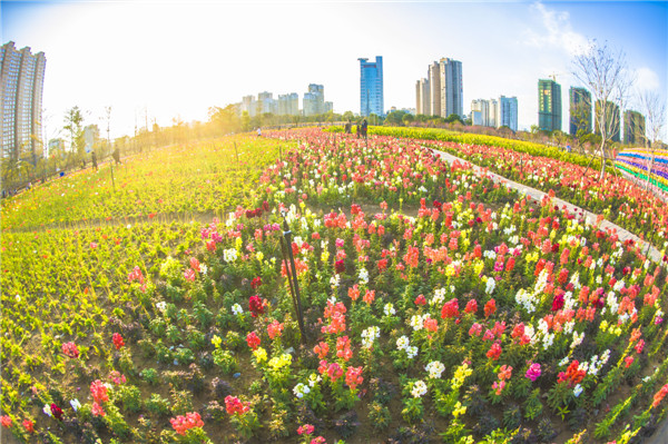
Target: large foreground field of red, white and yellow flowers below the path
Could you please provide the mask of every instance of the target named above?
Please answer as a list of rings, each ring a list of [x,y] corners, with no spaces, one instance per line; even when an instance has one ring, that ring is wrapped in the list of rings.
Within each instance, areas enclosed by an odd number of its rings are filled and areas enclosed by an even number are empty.
[[[266,136],[2,208],[3,442],[628,443],[666,418],[664,264],[420,140]]]

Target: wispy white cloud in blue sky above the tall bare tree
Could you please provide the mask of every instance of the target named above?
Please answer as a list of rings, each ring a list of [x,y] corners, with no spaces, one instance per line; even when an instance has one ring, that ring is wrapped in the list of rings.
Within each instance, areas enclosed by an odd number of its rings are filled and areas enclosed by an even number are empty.
[[[524,42],[531,47],[546,47],[564,50],[569,56],[582,53],[588,48],[588,40],[581,33],[573,31],[570,14],[567,11],[548,9],[543,3],[531,4],[531,12],[538,16],[540,22],[536,28],[525,31]]]

